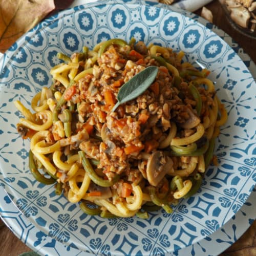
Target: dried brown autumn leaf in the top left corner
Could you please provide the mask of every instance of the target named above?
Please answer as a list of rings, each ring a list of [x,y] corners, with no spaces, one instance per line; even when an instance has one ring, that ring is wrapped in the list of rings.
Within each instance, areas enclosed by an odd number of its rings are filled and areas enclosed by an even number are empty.
[[[0,0],[0,52],[5,52],[54,8],[54,0]]]

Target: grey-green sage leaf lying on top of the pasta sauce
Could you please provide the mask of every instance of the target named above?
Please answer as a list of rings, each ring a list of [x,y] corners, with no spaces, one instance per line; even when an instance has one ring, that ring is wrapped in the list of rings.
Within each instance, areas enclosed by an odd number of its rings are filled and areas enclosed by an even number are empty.
[[[135,99],[146,91],[146,89],[150,87],[155,80],[157,73],[158,67],[150,66],[140,71],[137,75],[124,83],[117,94],[118,101],[114,105],[112,111],[115,111],[120,104]]]

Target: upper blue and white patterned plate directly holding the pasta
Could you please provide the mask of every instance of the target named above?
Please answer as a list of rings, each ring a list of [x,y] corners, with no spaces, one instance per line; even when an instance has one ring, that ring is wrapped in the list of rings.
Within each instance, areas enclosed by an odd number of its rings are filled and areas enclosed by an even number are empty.
[[[208,237],[242,207],[256,180],[255,81],[236,52],[197,19],[171,6],[102,1],[51,17],[4,55],[0,179],[19,210],[39,230],[68,247],[95,254],[166,254]],[[216,146],[219,165],[209,167],[196,196],[181,201],[170,215],[159,211],[148,220],[104,220],[83,214],[77,204],[56,196],[53,186],[33,179],[28,170],[29,143],[15,129],[20,116],[13,100],[29,107],[33,95],[42,86],[50,86],[49,70],[58,63],[57,52],[71,54],[83,45],[92,48],[101,40],[129,41],[131,36],[146,44],[181,49],[188,61],[207,67],[229,118]]]

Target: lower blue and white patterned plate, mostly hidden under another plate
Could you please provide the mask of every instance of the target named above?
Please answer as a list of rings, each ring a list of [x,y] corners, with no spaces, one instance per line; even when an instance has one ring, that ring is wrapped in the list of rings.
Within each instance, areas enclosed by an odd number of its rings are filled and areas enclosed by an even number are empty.
[[[255,200],[256,189],[252,191],[249,198],[236,215],[234,215],[222,228],[212,233],[209,237],[202,239],[200,242],[178,251],[170,252],[167,255],[219,255],[233,242],[236,242],[243,232],[252,224],[256,212]],[[11,230],[13,230],[20,240],[38,254],[70,256],[89,255],[87,252],[63,245],[36,228],[17,209],[2,186],[0,186],[0,205],[0,216],[2,220]]]

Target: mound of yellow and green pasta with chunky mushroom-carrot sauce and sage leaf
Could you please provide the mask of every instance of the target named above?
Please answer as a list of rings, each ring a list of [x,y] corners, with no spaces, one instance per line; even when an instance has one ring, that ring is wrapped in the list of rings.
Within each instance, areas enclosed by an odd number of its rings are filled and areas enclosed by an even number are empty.
[[[103,218],[171,213],[197,193],[227,113],[209,71],[183,56],[134,38],[58,53],[34,113],[14,102],[35,179]]]

